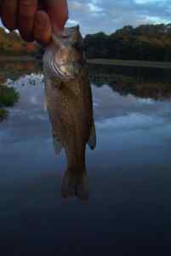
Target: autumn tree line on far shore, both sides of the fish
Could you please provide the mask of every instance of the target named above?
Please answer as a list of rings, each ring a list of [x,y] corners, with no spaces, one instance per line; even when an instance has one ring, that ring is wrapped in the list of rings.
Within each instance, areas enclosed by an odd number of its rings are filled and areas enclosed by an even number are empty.
[[[110,35],[88,34],[83,48],[89,59],[171,61],[171,24],[123,26]],[[43,49],[0,27],[0,55],[43,55]]]

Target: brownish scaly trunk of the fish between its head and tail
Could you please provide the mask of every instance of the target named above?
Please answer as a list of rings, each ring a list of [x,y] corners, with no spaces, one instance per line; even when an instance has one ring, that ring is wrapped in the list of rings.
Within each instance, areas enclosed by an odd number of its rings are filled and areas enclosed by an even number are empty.
[[[45,79],[45,95],[54,137],[58,137],[69,163],[84,165],[93,109],[88,74],[83,68],[70,82]]]

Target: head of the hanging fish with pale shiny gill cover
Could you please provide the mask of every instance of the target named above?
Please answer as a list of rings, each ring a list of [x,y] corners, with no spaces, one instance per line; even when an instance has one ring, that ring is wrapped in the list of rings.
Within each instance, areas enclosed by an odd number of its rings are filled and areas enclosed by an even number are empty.
[[[49,76],[60,80],[77,78],[83,67],[83,53],[76,47],[80,38],[78,26],[66,28],[59,35],[52,33],[52,42],[43,58]]]

